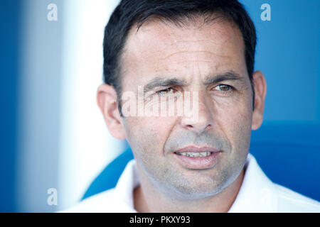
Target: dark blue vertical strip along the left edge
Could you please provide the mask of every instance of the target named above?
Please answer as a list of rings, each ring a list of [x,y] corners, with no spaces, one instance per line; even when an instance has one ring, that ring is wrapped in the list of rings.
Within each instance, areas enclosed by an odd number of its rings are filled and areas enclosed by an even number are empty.
[[[14,196],[16,173],[16,110],[18,84],[18,33],[20,1],[1,1],[1,152],[0,211],[16,211]]]

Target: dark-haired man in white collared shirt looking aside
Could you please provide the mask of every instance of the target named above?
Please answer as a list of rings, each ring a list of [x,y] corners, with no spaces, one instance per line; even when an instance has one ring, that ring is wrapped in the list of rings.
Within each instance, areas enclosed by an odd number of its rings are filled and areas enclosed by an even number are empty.
[[[121,1],[105,29],[97,103],[134,160],[117,187],[68,211],[319,212],[319,202],[272,183],[248,154],[267,91],[253,71],[255,45],[236,0]],[[196,97],[191,115],[177,114],[185,94]],[[146,114],[150,106],[174,114]]]

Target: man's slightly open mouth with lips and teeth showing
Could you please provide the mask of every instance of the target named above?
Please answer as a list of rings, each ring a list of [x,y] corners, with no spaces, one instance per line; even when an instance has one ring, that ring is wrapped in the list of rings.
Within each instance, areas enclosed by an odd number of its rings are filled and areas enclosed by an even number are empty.
[[[188,169],[205,170],[214,167],[221,151],[210,147],[188,146],[173,152],[178,162]]]

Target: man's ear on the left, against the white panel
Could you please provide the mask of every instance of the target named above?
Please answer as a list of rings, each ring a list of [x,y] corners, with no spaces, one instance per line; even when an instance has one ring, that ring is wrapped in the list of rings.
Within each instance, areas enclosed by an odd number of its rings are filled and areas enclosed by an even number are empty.
[[[114,138],[124,140],[126,138],[121,116],[117,105],[117,92],[109,84],[101,84],[97,89],[97,105],[99,106],[105,123]]]

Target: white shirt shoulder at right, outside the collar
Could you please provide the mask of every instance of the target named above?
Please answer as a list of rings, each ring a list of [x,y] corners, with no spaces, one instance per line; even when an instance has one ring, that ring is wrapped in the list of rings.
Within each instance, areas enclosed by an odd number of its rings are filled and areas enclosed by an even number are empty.
[[[292,191],[287,187],[274,184],[278,196],[279,212],[319,213],[320,203],[302,194]]]

